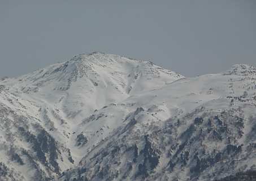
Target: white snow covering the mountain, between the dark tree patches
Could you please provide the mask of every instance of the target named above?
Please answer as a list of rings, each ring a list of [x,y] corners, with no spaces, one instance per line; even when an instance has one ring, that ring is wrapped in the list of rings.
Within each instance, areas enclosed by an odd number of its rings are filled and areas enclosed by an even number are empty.
[[[234,65],[223,73],[186,78],[150,61],[100,52],[77,55],[64,63],[50,65],[24,76],[2,78],[0,162],[13,170],[13,175],[7,174],[5,179],[36,180],[40,170],[45,176],[40,178],[41,180],[72,180],[78,178],[77,169],[86,167],[90,170],[86,173],[88,180],[106,180],[110,178],[108,174],[104,175],[106,178],[95,176],[97,167],[102,169],[105,163],[105,166],[113,169],[115,167],[121,173],[112,180],[209,180],[207,176],[213,172],[211,169],[218,171],[220,167],[216,165],[221,165],[220,162],[206,167],[197,176],[189,169],[193,165],[192,158],[188,161],[190,166],[177,164],[173,171],[167,171],[168,164],[170,165],[167,152],[170,151],[171,143],[166,143],[165,148],[160,147],[160,141],[158,143],[157,140],[162,138],[159,135],[150,137],[152,145],[155,144],[161,154],[158,165],[146,177],[134,176],[139,165],[135,164],[129,173],[130,176],[124,179],[122,173],[127,169],[126,164],[132,162],[128,153],[123,154],[123,157],[120,155],[118,166],[111,165],[109,161],[97,164],[92,158],[97,157],[97,153],[102,149],[107,151],[112,142],[121,144],[120,139],[124,134],[124,144],[136,144],[140,153],[145,148],[144,142],[140,140],[143,140],[145,135],[154,135],[153,127],[163,130],[167,123],[175,125],[177,120],[181,123],[176,127],[173,136],[176,136],[177,143],[183,143],[182,135],[196,117],[206,120],[206,117],[210,119],[225,111],[232,112],[232,117],[237,116],[245,120],[242,127],[243,136],[230,143],[210,142],[210,133],[199,147],[207,147],[206,151],[213,151],[216,148],[222,150],[227,144],[256,143],[256,136],[251,135],[251,128],[256,125],[255,81],[256,69],[250,65]],[[136,123],[131,128],[129,122],[132,120],[136,120]],[[20,131],[20,127],[25,131]],[[48,164],[44,164],[38,158],[39,153],[34,148],[36,144],[32,138],[25,135],[29,131],[37,136],[41,130],[45,130],[55,140],[54,145],[58,148],[55,160],[59,165],[59,172],[51,163],[52,153],[46,151]],[[79,135],[86,137],[86,143],[79,144]],[[38,143],[40,149],[44,150],[45,145],[52,145],[49,136],[46,136],[46,143]],[[193,150],[192,145],[189,147],[189,150]],[[73,163],[69,159],[69,152]],[[174,152],[173,150],[173,154]],[[15,154],[19,155],[23,164],[14,158]],[[245,164],[244,170],[256,164],[256,156],[253,154],[243,159],[228,173],[210,176],[212,179],[223,178],[239,169],[242,170]],[[225,161],[227,160],[222,160]],[[140,155],[137,162],[143,162]],[[63,171],[67,173],[67,177],[61,174]],[[154,177],[158,174],[161,176]]]

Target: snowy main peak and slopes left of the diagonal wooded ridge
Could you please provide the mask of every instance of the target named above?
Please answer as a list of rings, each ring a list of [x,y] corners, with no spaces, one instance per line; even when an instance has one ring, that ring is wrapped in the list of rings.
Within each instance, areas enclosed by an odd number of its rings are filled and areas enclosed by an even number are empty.
[[[0,162],[20,175],[16,179],[54,178],[122,125],[119,118],[129,112],[105,117],[109,131],[99,136],[97,131],[104,125],[86,122],[97,109],[107,110],[132,95],[180,78],[183,76],[149,61],[99,52],[78,55],[25,76],[3,78]],[[82,132],[90,134],[86,147],[78,140],[83,140]]]

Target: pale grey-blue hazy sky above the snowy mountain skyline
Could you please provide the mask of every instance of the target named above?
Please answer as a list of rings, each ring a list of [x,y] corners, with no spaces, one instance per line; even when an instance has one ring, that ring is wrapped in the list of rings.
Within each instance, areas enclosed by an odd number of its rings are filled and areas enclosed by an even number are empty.
[[[0,77],[92,51],[185,76],[256,65],[256,1],[0,0]]]

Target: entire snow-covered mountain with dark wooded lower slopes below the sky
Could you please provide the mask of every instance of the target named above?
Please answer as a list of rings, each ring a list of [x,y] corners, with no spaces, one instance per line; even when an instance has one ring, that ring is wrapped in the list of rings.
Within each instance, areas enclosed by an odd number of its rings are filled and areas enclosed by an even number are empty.
[[[94,52],[0,79],[0,180],[236,180],[256,173],[256,68],[185,78]]]

